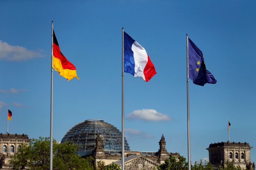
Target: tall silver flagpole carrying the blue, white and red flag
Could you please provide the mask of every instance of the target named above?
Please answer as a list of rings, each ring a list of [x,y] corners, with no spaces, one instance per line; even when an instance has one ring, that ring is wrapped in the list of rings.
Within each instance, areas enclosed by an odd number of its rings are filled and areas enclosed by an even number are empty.
[[[122,170],[124,170],[124,28],[122,28]]]

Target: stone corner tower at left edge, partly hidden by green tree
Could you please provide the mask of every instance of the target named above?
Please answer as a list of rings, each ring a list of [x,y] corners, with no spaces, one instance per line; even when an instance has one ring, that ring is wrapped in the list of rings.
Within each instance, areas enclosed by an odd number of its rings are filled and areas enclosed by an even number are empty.
[[[21,144],[28,144],[31,139],[28,135],[0,134],[0,169],[9,169],[9,160],[18,152]]]

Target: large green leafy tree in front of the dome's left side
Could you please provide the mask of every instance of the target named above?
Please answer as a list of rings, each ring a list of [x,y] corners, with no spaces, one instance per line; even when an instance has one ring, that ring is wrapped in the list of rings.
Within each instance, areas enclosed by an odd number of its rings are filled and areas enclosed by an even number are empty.
[[[59,144],[53,140],[53,170],[93,170],[92,157],[76,155],[76,145]],[[12,169],[48,170],[50,166],[50,138],[32,139],[29,145],[21,145],[9,161]]]

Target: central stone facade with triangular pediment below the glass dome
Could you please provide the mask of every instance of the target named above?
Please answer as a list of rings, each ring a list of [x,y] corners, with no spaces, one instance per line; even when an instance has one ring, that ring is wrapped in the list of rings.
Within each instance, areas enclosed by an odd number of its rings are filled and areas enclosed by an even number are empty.
[[[104,162],[105,165],[115,164],[121,166],[121,152],[120,151],[104,151],[102,147],[102,139],[98,135],[95,139],[95,149],[92,152],[94,162],[97,164],[98,161]],[[165,149],[164,137],[161,137],[159,141],[158,152],[140,152],[140,151],[128,151],[124,153],[124,167],[127,170],[152,170],[162,163],[165,159],[169,159],[170,155],[174,156],[176,159],[179,157],[179,153],[169,153]],[[89,155],[88,155],[89,156]]]

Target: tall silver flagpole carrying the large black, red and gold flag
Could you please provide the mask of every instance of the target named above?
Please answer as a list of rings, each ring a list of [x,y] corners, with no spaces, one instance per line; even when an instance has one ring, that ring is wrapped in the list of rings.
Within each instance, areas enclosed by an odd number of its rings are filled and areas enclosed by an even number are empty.
[[[52,118],[53,118],[53,21],[52,21],[52,77],[51,77],[51,126],[50,126],[50,170],[52,170]]]

